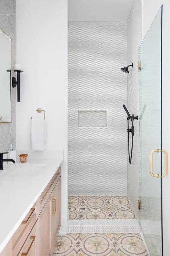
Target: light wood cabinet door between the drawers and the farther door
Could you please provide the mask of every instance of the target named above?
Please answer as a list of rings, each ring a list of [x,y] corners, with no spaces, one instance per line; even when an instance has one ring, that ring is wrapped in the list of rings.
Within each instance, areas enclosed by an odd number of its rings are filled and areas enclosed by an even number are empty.
[[[50,213],[51,196],[44,205],[39,216],[39,255],[50,255]]]

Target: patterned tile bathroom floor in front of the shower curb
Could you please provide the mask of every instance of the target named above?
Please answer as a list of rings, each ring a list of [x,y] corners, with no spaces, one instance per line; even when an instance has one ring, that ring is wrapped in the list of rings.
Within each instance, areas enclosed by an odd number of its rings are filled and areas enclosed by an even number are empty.
[[[130,233],[62,235],[57,239],[54,254],[61,256],[148,256],[140,234]]]

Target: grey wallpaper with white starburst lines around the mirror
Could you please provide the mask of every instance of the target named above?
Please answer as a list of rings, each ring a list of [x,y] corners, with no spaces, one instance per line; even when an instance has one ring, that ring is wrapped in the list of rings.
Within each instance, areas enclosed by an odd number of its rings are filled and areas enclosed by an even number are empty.
[[[0,0],[0,28],[12,39],[13,66],[16,63],[16,0]],[[16,88],[11,88],[11,92],[12,122],[0,123],[0,152],[8,151],[11,143],[16,145]]]

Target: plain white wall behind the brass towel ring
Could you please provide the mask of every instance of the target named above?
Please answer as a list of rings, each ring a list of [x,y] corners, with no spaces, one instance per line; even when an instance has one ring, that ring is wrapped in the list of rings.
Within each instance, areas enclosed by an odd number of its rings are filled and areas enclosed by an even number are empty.
[[[41,115],[37,108],[46,110],[46,150],[64,150],[61,215],[66,225],[66,0],[17,0],[17,62],[24,70],[17,103],[17,149],[30,149],[31,116]]]

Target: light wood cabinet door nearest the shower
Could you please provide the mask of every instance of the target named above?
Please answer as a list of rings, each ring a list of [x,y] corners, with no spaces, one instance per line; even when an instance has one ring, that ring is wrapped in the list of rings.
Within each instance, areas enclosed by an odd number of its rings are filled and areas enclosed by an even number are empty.
[[[61,226],[61,177],[51,193],[51,201],[51,252],[53,253],[58,232]]]

